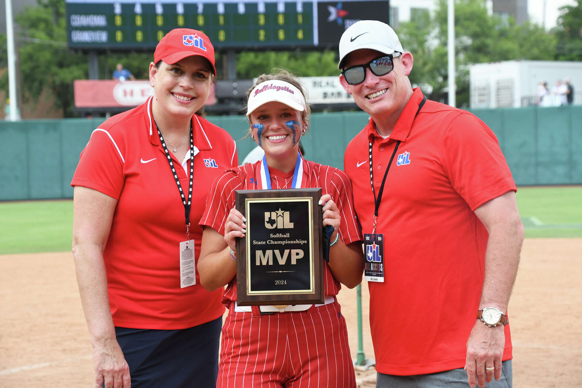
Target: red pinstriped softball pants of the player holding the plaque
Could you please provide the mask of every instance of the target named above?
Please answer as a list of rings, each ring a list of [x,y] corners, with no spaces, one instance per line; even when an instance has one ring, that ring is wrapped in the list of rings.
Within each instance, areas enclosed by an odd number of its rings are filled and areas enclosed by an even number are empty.
[[[338,302],[306,311],[235,312],[222,326],[218,388],[355,388]]]

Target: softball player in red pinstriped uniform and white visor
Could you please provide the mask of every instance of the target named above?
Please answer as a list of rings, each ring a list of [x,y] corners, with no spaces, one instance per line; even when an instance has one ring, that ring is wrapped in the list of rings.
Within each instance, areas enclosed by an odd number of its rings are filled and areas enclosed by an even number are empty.
[[[255,163],[225,172],[212,185],[200,253],[200,282],[222,289],[229,314],[222,329],[219,387],[356,387],[346,323],[335,295],[340,283],[361,282],[364,257],[352,206],[352,187],[343,171],[304,160],[299,141],[309,108],[299,81],[288,72],[263,74],[249,91],[250,135],[265,151]],[[235,190],[321,187],[324,226],[334,228],[329,264],[324,263],[325,303],[287,307],[242,307],[236,303],[235,240],[246,220],[234,209]]]

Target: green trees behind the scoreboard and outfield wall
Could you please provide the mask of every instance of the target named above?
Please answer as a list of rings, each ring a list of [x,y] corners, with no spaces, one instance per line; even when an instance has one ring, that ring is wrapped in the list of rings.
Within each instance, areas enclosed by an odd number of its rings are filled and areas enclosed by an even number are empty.
[[[439,0],[434,14],[415,13],[400,23],[396,33],[414,56],[410,74],[428,98],[442,100],[448,85],[447,1]],[[24,101],[36,101],[43,90],[54,95],[56,109],[74,116],[73,80],[87,79],[87,55],[66,47],[65,0],[37,0],[15,17],[20,92]],[[0,34],[0,66],[5,67],[6,35]],[[469,65],[499,60],[582,60],[582,0],[560,8],[557,26],[546,31],[529,21],[516,24],[488,15],[483,0],[455,0],[456,100],[469,104]],[[147,78],[151,52],[119,52],[99,57],[101,78],[121,62],[136,78]],[[222,58],[217,53],[217,69]],[[274,67],[286,67],[299,76],[339,74],[336,51],[243,51],[237,54],[239,79],[251,79]],[[220,71],[220,70],[219,70]],[[8,91],[8,74],[0,78]],[[8,94],[8,93],[7,93]]]

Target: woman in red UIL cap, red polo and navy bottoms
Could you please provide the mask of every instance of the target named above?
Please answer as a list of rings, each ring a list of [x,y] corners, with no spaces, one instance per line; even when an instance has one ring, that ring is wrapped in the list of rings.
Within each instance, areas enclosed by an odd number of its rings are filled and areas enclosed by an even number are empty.
[[[198,221],[236,145],[198,114],[216,74],[206,35],[170,31],[149,73],[154,95],[91,134],[71,183],[95,382],[210,387],[224,308],[200,286]]]

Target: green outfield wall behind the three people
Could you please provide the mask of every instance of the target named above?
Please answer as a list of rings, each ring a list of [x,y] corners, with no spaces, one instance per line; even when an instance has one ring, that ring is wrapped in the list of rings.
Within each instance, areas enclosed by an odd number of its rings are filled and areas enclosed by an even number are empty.
[[[582,184],[582,106],[475,109],[495,131],[518,185]],[[235,140],[244,116],[208,116]],[[91,132],[103,119],[0,122],[0,200],[70,198],[70,180]],[[364,127],[364,112],[314,113],[306,158],[343,168],[347,143]],[[216,146],[216,145],[214,145]],[[237,141],[239,160],[254,147]],[[475,144],[478,150],[478,144]]]

